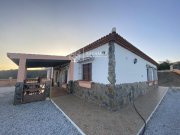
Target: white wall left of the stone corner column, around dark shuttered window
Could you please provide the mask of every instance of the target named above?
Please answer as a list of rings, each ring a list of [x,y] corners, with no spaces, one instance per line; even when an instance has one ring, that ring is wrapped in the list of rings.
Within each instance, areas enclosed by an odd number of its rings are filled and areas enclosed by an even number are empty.
[[[105,51],[105,54],[101,54]],[[92,81],[98,83],[108,84],[108,44],[95,48],[87,52],[88,54],[92,54],[95,58],[92,61]],[[88,55],[86,55],[88,56]],[[76,57],[76,60],[82,57],[82,54]],[[90,62],[85,62],[90,63]],[[85,63],[77,63],[74,64],[74,80],[82,80],[82,64]]]

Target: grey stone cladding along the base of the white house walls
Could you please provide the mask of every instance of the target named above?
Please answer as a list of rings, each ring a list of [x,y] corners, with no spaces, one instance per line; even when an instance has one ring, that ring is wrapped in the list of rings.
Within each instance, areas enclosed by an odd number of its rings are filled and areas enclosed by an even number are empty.
[[[123,105],[129,104],[133,95],[134,98],[137,98],[156,87],[157,85],[149,86],[146,82],[139,82],[115,86],[92,83],[91,88],[83,88],[75,81],[73,83],[73,93],[89,102],[97,103],[111,110],[117,110],[122,108]]]

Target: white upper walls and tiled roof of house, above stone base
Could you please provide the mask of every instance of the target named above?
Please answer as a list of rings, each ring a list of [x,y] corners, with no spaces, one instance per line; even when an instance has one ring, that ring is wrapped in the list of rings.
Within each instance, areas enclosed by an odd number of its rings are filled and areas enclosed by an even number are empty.
[[[64,68],[55,67],[54,79],[61,76],[62,83],[84,81],[84,83],[110,84],[109,71],[109,42],[114,46],[115,84],[149,82],[157,83],[157,63],[142,51],[134,47],[115,31],[101,39],[68,55],[73,62],[73,76],[69,79],[69,64]],[[56,70],[57,69],[57,70]],[[61,73],[61,74],[60,74]],[[64,82],[63,82],[64,81]]]

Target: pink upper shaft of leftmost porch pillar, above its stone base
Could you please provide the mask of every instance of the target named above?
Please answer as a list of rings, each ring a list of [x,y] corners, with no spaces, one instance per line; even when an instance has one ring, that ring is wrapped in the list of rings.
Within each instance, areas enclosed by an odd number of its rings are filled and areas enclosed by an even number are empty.
[[[17,75],[17,82],[24,82],[26,79],[26,58],[20,58],[19,59],[19,69],[18,69],[18,75]]]

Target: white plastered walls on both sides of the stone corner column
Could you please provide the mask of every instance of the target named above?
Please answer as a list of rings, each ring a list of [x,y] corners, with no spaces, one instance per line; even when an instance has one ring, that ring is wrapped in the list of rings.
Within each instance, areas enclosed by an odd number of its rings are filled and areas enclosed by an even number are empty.
[[[98,83],[109,84],[108,77],[108,44],[88,51],[89,54],[97,54],[105,51],[105,55],[98,57],[93,55],[95,59],[92,61],[92,81]],[[85,55],[87,56],[87,55]],[[82,57],[82,54],[76,57],[78,60]],[[137,59],[137,63],[134,64],[134,59]],[[156,68],[155,65],[130,52],[129,50],[119,46],[115,43],[115,59],[116,59],[116,84],[121,83],[133,83],[147,81],[147,68],[146,65],[150,65]],[[74,80],[82,80],[82,64],[90,62],[74,64]]]

